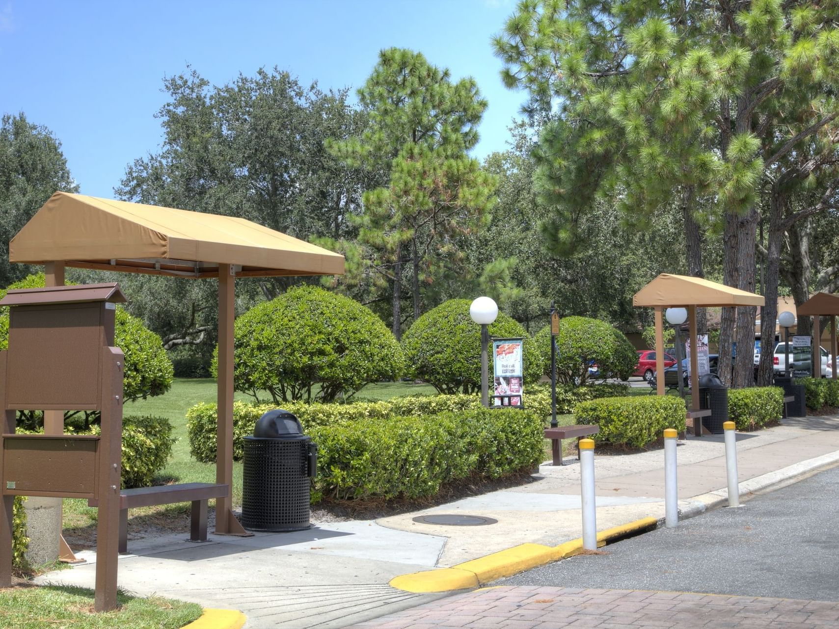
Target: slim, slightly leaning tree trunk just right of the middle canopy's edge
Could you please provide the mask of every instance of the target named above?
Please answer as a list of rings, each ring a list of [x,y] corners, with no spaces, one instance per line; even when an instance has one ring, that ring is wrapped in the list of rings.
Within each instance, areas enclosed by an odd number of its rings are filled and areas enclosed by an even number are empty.
[[[763,299],[760,311],[760,363],[758,365],[758,387],[769,387],[774,375],[772,348],[775,346],[775,320],[778,319],[778,279],[781,242],[784,240],[783,193],[776,186],[772,189],[769,214],[769,243],[766,248],[766,262],[763,263]]]

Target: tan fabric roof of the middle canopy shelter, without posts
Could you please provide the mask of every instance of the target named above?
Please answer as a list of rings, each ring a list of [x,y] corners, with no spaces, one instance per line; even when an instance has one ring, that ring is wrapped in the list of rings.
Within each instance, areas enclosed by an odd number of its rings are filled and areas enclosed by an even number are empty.
[[[632,299],[633,306],[762,306],[763,297],[686,275],[661,273]]]

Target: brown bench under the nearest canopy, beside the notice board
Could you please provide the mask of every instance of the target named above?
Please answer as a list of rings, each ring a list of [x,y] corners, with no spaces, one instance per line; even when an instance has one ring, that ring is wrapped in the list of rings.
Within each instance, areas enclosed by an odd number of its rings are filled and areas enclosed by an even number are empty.
[[[207,501],[229,495],[230,486],[213,483],[181,483],[157,487],[138,487],[119,492],[119,552],[128,553],[128,509],[192,502],[190,542],[207,541]],[[88,500],[88,507],[97,507],[97,500]]]

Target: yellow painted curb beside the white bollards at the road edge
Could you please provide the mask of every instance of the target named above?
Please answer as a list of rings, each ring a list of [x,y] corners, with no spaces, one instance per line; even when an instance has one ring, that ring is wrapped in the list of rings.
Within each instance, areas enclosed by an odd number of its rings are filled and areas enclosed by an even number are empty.
[[[610,540],[623,538],[629,533],[644,528],[658,526],[655,517],[643,517],[628,524],[607,528],[597,533],[597,548],[605,546]],[[477,588],[505,576],[512,576],[524,570],[550,564],[558,559],[568,559],[583,552],[582,538],[560,543],[559,546],[545,546],[540,543],[523,543],[513,548],[488,554],[457,564],[451,568],[425,570],[394,577],[390,585],[407,592],[448,592]]]

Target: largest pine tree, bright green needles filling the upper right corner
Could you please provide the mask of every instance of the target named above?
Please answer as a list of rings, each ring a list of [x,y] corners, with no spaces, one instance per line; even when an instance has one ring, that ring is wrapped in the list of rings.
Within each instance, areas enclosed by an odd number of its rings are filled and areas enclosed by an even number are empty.
[[[548,236],[571,247],[597,195],[644,226],[658,205],[685,195],[712,204],[688,212],[722,231],[724,280],[755,289],[759,194],[774,170],[836,119],[836,3],[753,0],[587,3],[525,0],[494,40],[503,80],[549,112],[539,184],[557,208]],[[554,107],[558,104],[557,107]],[[740,309],[749,347],[754,309]],[[727,379],[734,314],[722,320]],[[735,382],[751,381],[751,351]]]

